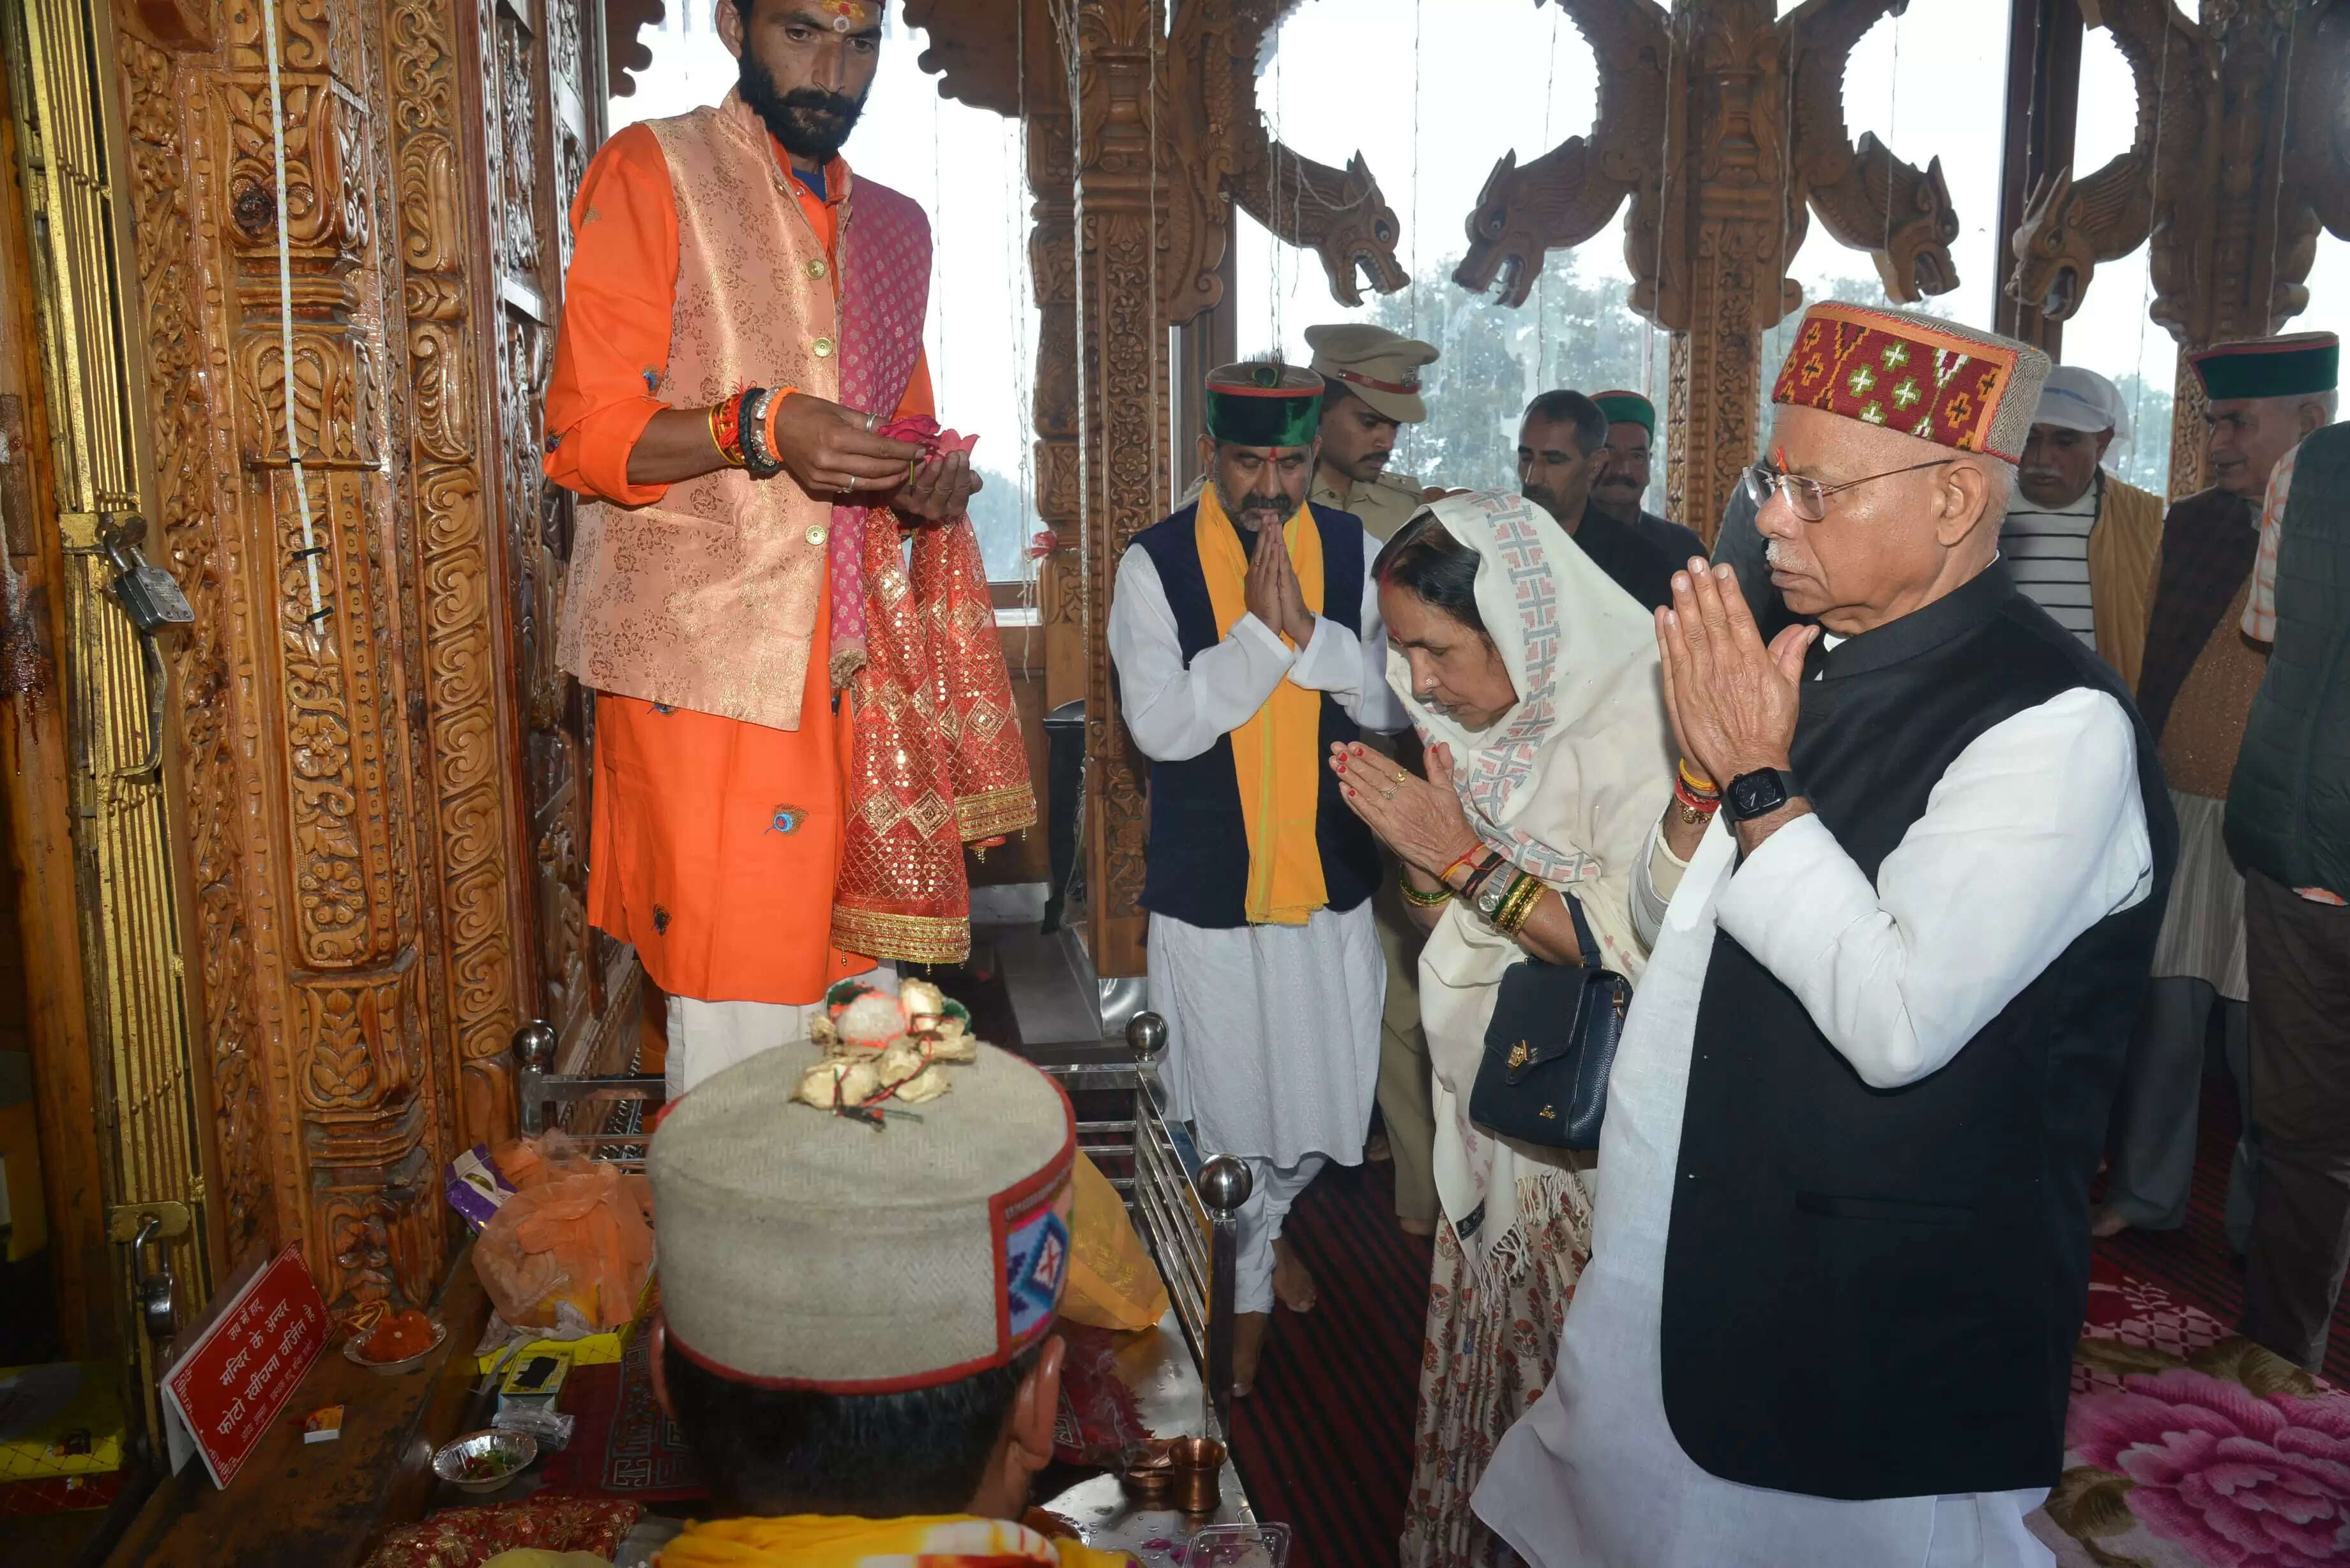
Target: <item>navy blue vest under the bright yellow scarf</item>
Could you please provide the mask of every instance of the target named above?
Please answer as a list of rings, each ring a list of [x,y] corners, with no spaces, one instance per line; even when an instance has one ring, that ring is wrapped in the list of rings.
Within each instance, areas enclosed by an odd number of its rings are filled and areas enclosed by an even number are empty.
[[[1208,578],[1198,569],[1198,505],[1142,529],[1135,543],[1159,567],[1159,585],[1175,611],[1182,661],[1222,642]],[[1314,508],[1323,541],[1323,621],[1363,635],[1363,524],[1354,512]],[[1361,736],[1337,698],[1323,693],[1321,752]],[[1337,778],[1321,769],[1321,806],[1314,813],[1321,844],[1323,886],[1332,910],[1351,910],[1379,886],[1379,853],[1337,792]],[[1142,875],[1142,907],[1187,926],[1227,931],[1248,924],[1248,832],[1241,825],[1241,783],[1231,771],[1231,736],[1217,736],[1189,762],[1152,764],[1152,842]]]

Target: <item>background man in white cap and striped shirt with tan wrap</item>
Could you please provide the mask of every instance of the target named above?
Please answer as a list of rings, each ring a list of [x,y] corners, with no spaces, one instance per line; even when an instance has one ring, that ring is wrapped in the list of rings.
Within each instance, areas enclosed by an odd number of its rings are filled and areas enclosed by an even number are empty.
[[[2136,686],[2162,559],[2162,498],[2115,477],[2122,440],[2122,390],[2094,369],[2052,369],[2016,465],[2016,503],[2000,524],[2000,555],[2023,597]]]

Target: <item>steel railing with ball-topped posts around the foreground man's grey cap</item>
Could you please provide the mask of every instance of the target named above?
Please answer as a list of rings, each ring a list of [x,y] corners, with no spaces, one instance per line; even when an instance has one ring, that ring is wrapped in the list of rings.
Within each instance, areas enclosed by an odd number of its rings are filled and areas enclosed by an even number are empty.
[[[1231,1154],[1201,1159],[1191,1128],[1168,1107],[1159,1081],[1166,1060],[1166,1020],[1135,1013],[1126,1025],[1130,1063],[1039,1063],[1072,1095],[1114,1093],[1130,1114],[1076,1124],[1076,1143],[1095,1164],[1112,1166],[1109,1180],[1126,1197],[1135,1229],[1152,1248],[1166,1279],[1175,1321],[1198,1359],[1206,1387],[1208,1436],[1231,1429],[1231,1286],[1241,1251],[1241,1206],[1248,1204],[1248,1166]],[[576,1103],[642,1100],[646,1110],[665,1098],[660,1077],[555,1072],[555,1030],[543,1020],[515,1030],[517,1098],[522,1131],[543,1133],[559,1110]],[[639,1119],[642,1124],[642,1119]],[[595,1159],[632,1171],[644,1168],[651,1133],[573,1133]]]

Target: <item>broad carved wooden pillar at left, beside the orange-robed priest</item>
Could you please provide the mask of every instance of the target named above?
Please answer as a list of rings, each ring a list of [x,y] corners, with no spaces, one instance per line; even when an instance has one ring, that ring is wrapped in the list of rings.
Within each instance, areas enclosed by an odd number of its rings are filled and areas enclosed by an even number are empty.
[[[501,73],[463,0],[284,0],[282,214],[261,2],[226,0],[219,40],[197,5],[122,24],[160,555],[197,616],[174,656],[223,1253],[301,1241],[329,1302],[425,1300],[439,1164],[512,1128],[505,1046],[533,1001],[501,508],[548,529],[536,381],[519,407],[494,350],[517,336],[501,308],[545,327],[552,306],[482,259],[515,256],[498,223],[519,214],[559,270],[599,24],[543,0],[529,49],[491,40],[522,59]],[[540,150],[494,207],[484,148],[510,153],[494,127],[517,82]]]

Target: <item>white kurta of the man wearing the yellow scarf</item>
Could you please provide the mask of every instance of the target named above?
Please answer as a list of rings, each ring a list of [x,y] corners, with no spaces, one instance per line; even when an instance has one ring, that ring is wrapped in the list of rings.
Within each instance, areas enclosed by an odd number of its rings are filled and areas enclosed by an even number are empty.
[[[1130,548],[1109,602],[1126,729],[1144,757],[1184,762],[1246,724],[1283,679],[1328,691],[1363,729],[1401,729],[1370,581],[1358,625],[1361,637],[1316,618],[1307,646],[1290,649],[1243,614],[1184,665],[1159,567]],[[1248,856],[1238,804],[1231,853]],[[1368,900],[1316,910],[1304,926],[1213,931],[1152,914],[1149,1004],[1168,1023],[1163,1081],[1213,1154],[1356,1164],[1379,1086],[1384,999],[1386,961]]]

